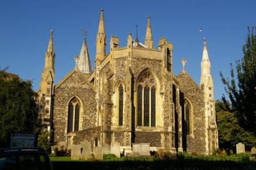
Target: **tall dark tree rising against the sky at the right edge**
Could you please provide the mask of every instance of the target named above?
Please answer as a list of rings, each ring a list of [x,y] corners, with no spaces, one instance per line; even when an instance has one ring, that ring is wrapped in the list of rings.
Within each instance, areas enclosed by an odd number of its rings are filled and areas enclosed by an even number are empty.
[[[256,27],[248,27],[246,44],[243,45],[243,58],[236,61],[235,70],[230,63],[231,79],[220,72],[225,91],[232,104],[237,121],[245,130],[256,136]],[[237,82],[236,82],[237,80]],[[223,98],[226,100],[226,98]]]

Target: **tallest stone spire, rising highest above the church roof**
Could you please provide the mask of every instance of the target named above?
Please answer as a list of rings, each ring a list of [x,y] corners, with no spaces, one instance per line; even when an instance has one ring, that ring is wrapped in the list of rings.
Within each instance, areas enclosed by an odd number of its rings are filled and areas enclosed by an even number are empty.
[[[104,27],[103,9],[100,11],[100,22],[96,40],[96,58],[95,61],[102,61],[106,54],[106,33]],[[99,64],[98,62],[98,64]],[[97,65],[96,65],[97,66]]]

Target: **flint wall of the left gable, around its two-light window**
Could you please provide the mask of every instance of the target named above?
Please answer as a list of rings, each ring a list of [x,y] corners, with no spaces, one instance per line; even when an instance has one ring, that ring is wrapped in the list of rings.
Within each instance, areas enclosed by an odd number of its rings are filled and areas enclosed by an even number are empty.
[[[82,128],[95,127],[97,120],[95,92],[86,84],[81,72],[74,72],[69,75],[69,77],[55,89],[54,95],[54,144],[60,141],[66,141],[68,101],[73,97],[78,97],[83,105],[83,112],[80,112],[80,114],[82,114]]]

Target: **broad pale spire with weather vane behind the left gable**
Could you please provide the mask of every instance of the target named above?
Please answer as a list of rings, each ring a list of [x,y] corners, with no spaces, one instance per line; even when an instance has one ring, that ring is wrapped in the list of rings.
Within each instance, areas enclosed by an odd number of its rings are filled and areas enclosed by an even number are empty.
[[[78,59],[78,62],[77,62],[77,68],[82,73],[92,73],[92,66],[91,66],[91,61],[90,61],[90,57],[89,57],[85,37],[84,37],[84,42],[83,42],[81,52],[80,52],[80,55],[79,55],[79,59]]]

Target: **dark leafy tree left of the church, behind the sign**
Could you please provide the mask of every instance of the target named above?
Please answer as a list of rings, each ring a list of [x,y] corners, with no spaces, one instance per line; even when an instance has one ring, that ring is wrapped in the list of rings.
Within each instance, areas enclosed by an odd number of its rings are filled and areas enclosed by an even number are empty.
[[[0,148],[8,146],[10,132],[37,131],[36,93],[31,81],[6,76],[8,73],[0,70]]]

